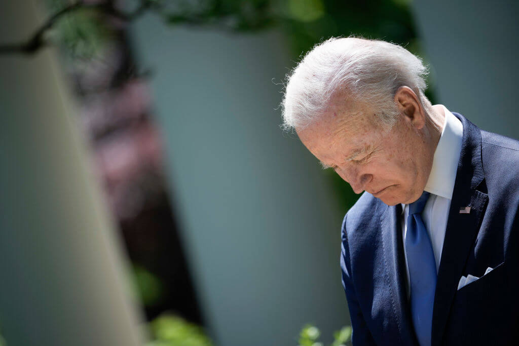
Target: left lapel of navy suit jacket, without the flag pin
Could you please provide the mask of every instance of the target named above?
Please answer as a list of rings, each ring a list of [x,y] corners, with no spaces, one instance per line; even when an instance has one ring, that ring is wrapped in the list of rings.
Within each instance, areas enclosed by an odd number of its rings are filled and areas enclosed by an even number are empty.
[[[411,314],[409,313],[409,303],[405,289],[407,274],[405,270],[402,226],[400,223],[402,207],[400,204],[398,206],[385,206],[386,210],[380,218],[380,226],[386,270],[389,275],[390,287],[388,289],[391,290],[393,299],[393,312],[397,319],[401,344],[418,345],[411,321]]]

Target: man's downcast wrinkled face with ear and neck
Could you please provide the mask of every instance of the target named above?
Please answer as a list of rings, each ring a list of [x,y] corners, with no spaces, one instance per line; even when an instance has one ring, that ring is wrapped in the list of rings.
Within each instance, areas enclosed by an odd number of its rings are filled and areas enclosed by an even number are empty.
[[[441,106],[427,114],[408,87],[398,89],[394,101],[399,116],[390,130],[346,92],[331,98],[319,120],[296,129],[308,150],[354,192],[365,190],[388,205],[412,203],[424,191],[444,118]]]

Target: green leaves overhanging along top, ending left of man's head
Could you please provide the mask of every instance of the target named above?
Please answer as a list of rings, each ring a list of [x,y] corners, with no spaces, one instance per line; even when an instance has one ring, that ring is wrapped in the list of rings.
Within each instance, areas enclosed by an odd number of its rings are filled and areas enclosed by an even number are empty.
[[[170,26],[206,26],[231,32],[257,31],[279,19],[271,0],[128,0],[122,4],[111,0],[46,1],[49,15],[80,3],[60,15],[45,35],[46,41],[65,49],[65,56],[76,59],[93,58],[110,43],[114,30],[106,25],[107,18],[124,24],[151,12]]]

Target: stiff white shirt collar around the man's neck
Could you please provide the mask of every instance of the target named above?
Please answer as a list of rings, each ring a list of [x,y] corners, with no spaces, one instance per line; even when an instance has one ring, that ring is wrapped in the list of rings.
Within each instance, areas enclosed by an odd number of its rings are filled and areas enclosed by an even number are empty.
[[[434,151],[431,173],[425,190],[447,199],[452,199],[459,155],[463,141],[463,125],[461,121],[443,106],[445,120],[440,141]],[[402,204],[402,211],[405,204]]]

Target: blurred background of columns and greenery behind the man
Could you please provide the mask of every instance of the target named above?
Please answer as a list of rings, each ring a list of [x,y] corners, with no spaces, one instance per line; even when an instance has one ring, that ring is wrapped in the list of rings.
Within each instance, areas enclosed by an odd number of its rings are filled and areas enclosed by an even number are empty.
[[[2,2],[0,345],[346,342],[357,196],[280,129],[285,75],[330,36],[392,41],[433,103],[517,138],[518,8]]]

